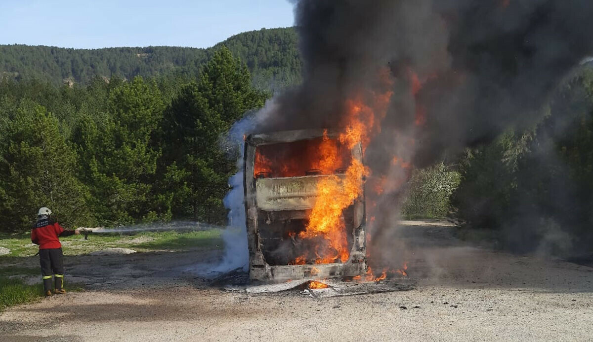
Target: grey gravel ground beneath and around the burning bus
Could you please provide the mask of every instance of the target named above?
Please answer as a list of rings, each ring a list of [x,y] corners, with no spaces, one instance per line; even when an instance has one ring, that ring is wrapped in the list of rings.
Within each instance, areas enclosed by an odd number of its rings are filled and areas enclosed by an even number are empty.
[[[407,229],[414,290],[327,299],[221,291],[205,279],[219,251],[69,257],[91,289],[8,309],[0,340],[593,341],[593,268]]]

